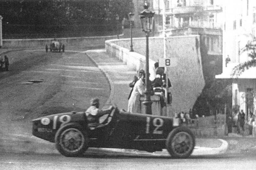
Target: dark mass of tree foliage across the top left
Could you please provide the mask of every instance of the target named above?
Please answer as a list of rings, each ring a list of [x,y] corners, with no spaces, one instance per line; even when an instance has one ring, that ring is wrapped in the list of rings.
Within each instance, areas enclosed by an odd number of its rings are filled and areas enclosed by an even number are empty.
[[[132,0],[0,0],[3,24],[105,24],[132,10]]]

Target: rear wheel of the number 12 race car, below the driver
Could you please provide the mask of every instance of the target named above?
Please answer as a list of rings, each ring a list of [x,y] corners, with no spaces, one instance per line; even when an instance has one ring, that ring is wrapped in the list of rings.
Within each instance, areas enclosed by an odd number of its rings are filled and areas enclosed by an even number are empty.
[[[56,132],[55,145],[57,150],[66,157],[82,155],[88,148],[86,130],[77,123],[68,123]]]

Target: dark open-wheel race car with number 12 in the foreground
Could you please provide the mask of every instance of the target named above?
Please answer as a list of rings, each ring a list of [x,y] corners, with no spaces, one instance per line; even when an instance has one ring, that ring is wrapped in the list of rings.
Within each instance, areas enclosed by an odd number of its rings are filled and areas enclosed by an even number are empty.
[[[179,118],[119,111],[104,106],[109,114],[99,123],[88,123],[85,112],[67,112],[37,118],[33,135],[55,142],[64,156],[76,157],[88,147],[122,148],[141,151],[167,149],[171,156],[187,158],[195,147],[192,131]]]

